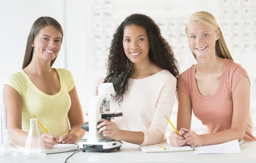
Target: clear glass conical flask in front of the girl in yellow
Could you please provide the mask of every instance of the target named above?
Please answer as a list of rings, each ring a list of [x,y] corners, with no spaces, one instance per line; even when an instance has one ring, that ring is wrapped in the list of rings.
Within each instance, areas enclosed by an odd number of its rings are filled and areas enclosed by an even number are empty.
[[[44,144],[38,129],[37,118],[30,118],[29,134],[23,155],[27,158],[43,158],[46,156]]]

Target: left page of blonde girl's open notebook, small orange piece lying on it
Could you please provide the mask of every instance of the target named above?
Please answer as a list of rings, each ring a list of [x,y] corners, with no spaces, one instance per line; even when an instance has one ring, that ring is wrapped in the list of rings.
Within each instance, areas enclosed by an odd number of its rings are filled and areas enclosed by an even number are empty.
[[[165,149],[162,149],[159,147],[163,146]],[[143,152],[150,153],[150,152],[188,152],[188,151],[194,151],[194,148],[191,148],[189,146],[181,146],[181,147],[173,147],[171,144],[155,144],[155,145],[149,145],[149,146],[140,146],[140,149]]]

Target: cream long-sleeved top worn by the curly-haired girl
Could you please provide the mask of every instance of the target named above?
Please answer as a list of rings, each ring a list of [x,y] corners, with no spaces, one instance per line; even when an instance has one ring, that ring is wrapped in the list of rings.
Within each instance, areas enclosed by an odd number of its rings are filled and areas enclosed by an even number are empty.
[[[143,132],[140,146],[160,143],[165,137],[176,94],[176,78],[162,70],[143,79],[129,79],[123,102],[111,104],[111,112],[122,112],[113,122],[119,129]],[[112,100],[113,102],[113,100]]]

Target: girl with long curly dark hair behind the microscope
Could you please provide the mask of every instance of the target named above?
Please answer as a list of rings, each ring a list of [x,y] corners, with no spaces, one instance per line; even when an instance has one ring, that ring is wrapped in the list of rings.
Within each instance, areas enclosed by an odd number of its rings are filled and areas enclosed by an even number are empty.
[[[111,112],[123,113],[113,122],[102,120],[99,133],[114,140],[151,145],[165,139],[179,74],[171,46],[161,36],[157,24],[143,14],[132,14],[116,29],[108,57],[108,73],[118,77],[128,73]],[[100,83],[96,85],[96,95]]]

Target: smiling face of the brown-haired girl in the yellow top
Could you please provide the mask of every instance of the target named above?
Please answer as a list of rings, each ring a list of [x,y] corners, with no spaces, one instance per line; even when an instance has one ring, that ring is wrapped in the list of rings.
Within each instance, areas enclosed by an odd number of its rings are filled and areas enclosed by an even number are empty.
[[[43,27],[33,41],[33,57],[51,61],[61,50],[61,33],[52,26]]]

